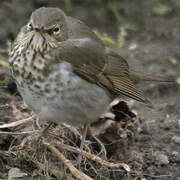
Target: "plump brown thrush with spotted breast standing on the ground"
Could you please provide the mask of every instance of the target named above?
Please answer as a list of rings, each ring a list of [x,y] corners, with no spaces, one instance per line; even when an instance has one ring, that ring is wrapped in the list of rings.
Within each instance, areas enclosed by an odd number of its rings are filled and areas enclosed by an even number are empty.
[[[152,106],[136,88],[133,78],[141,76],[127,61],[60,8],[32,12],[10,48],[9,63],[18,91],[40,120],[84,126],[81,149],[88,125],[114,98]]]

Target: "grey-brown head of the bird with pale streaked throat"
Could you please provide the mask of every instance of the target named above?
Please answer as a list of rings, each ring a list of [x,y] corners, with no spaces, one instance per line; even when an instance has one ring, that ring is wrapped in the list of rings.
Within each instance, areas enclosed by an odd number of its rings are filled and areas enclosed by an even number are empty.
[[[43,51],[66,39],[65,26],[65,15],[60,9],[40,8],[32,13],[19,39],[23,40],[27,47]]]

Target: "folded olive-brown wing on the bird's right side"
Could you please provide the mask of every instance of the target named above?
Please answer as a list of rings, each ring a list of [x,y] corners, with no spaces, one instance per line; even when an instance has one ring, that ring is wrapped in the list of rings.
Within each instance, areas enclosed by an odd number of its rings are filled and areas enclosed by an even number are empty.
[[[106,88],[116,96],[123,94],[150,106],[129,77],[129,66],[118,54],[95,41],[71,39],[58,47],[56,59],[71,63],[75,73],[91,83]]]

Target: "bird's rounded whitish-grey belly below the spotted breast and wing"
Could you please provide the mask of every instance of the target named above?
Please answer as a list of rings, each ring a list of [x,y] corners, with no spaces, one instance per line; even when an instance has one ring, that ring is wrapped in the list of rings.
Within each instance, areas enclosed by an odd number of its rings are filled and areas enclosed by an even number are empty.
[[[74,74],[70,64],[58,64],[43,82],[23,84],[16,78],[24,101],[41,120],[82,125],[96,121],[111,98],[105,89]]]

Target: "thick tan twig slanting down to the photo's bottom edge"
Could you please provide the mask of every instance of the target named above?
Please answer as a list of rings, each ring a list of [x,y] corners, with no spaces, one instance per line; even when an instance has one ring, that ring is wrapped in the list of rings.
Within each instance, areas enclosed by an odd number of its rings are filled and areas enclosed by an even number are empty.
[[[58,159],[60,161],[62,161],[71,171],[71,173],[78,179],[80,180],[93,180],[92,178],[90,178],[89,176],[87,176],[86,174],[84,174],[83,172],[79,171],[78,169],[76,169],[73,164],[71,163],[71,161],[69,161],[68,159],[65,158],[65,156],[58,151],[58,149],[56,149],[54,146],[50,145],[49,143],[43,141],[43,144],[46,145],[48,147],[49,150],[51,150],[52,152],[54,152]]]

